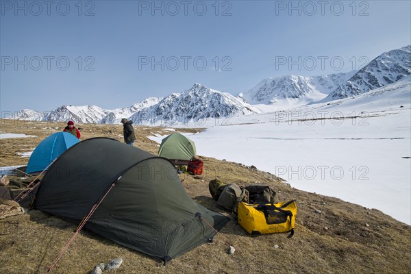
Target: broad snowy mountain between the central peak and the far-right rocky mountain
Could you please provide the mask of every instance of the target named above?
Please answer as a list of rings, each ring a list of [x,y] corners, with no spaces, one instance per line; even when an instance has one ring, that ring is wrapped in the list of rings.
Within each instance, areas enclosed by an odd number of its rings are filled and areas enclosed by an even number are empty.
[[[355,73],[356,71],[314,77],[286,75],[266,78],[238,96],[253,104],[277,103],[282,99],[300,99],[299,101],[310,103],[323,99]]]

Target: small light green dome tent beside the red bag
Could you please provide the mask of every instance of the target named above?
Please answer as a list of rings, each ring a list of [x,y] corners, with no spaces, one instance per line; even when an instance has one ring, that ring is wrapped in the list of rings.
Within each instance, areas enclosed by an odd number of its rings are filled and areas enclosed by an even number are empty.
[[[169,160],[188,161],[196,154],[195,143],[178,132],[164,138],[158,149],[158,155]]]

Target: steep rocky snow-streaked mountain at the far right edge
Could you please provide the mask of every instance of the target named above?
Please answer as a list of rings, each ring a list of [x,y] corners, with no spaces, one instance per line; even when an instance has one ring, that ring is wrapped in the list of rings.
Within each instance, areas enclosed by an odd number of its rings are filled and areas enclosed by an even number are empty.
[[[411,73],[411,46],[382,53],[321,102],[360,95],[397,82]]]

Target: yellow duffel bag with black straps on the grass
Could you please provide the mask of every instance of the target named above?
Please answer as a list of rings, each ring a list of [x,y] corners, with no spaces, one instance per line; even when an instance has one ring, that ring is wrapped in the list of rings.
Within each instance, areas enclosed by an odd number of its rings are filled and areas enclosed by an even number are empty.
[[[297,205],[295,200],[286,203],[268,203],[265,205],[238,203],[238,223],[249,234],[290,232],[294,235]]]

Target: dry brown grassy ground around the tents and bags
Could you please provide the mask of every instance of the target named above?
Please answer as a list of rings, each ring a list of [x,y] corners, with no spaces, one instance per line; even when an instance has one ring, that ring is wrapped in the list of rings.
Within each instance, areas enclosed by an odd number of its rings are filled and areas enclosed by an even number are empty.
[[[2,133],[23,133],[37,138],[0,140],[3,165],[27,164],[18,152],[34,149],[38,142],[62,130],[63,123],[0,120]],[[58,127],[58,128],[56,128]],[[82,139],[107,136],[121,140],[121,125],[79,125]],[[136,126],[135,145],[156,153],[158,145],[147,138],[165,135],[160,127]],[[201,129],[181,129],[196,132]],[[168,132],[169,133],[169,132]],[[206,154],[206,151],[203,151]],[[169,265],[83,231],[62,256],[53,273],[88,273],[99,262],[123,258],[116,273],[410,273],[411,229],[409,225],[379,212],[333,197],[291,188],[271,175],[234,162],[202,157],[203,176],[182,174],[188,194],[203,206],[221,212],[232,221],[211,244],[201,245]],[[233,216],[216,207],[208,182],[218,177],[241,186],[265,184],[279,193],[281,201],[297,199],[295,236],[287,234],[249,236]],[[382,201],[389,206],[392,201]],[[315,213],[320,210],[321,214]],[[0,220],[0,273],[45,273],[77,224],[30,210]],[[227,242],[236,248],[227,254]],[[275,249],[274,245],[279,247]]]

